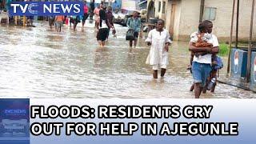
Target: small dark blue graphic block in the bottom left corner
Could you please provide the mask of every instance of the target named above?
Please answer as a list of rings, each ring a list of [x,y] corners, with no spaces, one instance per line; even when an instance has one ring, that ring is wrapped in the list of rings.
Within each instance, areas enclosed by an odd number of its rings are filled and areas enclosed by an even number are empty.
[[[30,143],[30,100],[0,99],[0,143]]]

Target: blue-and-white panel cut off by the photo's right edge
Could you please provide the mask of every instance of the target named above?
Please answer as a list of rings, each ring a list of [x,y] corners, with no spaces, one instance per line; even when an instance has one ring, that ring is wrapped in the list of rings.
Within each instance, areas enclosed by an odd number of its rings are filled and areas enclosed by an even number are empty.
[[[256,90],[256,52],[251,53],[250,61],[250,89]]]

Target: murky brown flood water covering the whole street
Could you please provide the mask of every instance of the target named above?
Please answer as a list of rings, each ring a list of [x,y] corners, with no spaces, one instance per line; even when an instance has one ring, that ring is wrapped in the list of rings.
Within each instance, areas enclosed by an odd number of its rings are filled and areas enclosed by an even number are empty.
[[[99,48],[94,26],[73,31],[50,30],[47,22],[36,27],[0,26],[0,97],[4,98],[194,98],[186,70],[187,42],[174,42],[166,77],[154,80],[145,64],[149,47],[140,39],[130,50],[126,27],[116,26]],[[226,61],[227,58],[224,58]],[[226,68],[221,71],[225,77]],[[256,98],[256,94],[218,84],[215,93],[201,98]]]

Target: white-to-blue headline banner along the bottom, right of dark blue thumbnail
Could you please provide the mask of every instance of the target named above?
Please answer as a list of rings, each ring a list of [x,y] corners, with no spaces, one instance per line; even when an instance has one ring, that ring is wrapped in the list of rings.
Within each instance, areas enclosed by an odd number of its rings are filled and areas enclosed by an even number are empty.
[[[30,143],[256,142],[256,107],[251,99],[32,99],[30,102]]]

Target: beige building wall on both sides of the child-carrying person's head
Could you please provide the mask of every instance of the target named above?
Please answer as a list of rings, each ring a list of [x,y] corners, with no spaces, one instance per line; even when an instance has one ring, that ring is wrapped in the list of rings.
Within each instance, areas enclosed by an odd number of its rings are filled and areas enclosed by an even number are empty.
[[[250,31],[250,14],[252,0],[241,0],[239,11],[238,40],[247,41]],[[232,17],[233,0],[206,0],[205,7],[215,7],[216,17],[213,20],[213,34],[218,36],[219,41],[228,42],[230,39],[230,24]],[[193,9],[192,9],[193,6]],[[187,41],[190,34],[197,30],[200,13],[200,0],[182,0],[182,14],[179,26],[178,40]],[[235,9],[236,15],[236,9]],[[235,18],[235,17],[234,17]],[[234,33],[235,35],[235,21]],[[256,14],[254,14],[253,38],[256,40]]]

